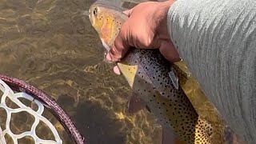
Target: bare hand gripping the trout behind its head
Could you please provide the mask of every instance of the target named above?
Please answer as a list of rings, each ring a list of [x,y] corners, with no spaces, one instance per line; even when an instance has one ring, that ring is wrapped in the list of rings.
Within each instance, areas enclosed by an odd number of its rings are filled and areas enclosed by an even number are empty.
[[[134,46],[141,49],[159,49],[170,62],[177,62],[180,58],[170,40],[166,22],[168,10],[173,3],[173,0],[143,2],[124,11],[129,18],[122,25],[114,44],[110,46],[106,59],[117,62],[130,46]],[[117,73],[117,68],[114,69]]]

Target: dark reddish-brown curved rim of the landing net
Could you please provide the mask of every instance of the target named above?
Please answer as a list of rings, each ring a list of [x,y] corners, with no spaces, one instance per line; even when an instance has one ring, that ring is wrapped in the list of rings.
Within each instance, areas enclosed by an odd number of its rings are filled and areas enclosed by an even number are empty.
[[[58,121],[62,123],[65,130],[70,134],[72,139],[74,139],[74,142],[77,144],[86,143],[85,138],[82,137],[82,134],[79,133],[77,127],[74,126],[74,122],[72,122],[68,114],[62,110],[61,106],[58,105],[54,98],[51,98],[49,95],[42,92],[42,90],[38,90],[34,86],[30,86],[17,78],[0,74],[0,79],[6,82],[12,89],[16,91],[22,90],[26,94],[30,94],[33,98],[38,99],[38,101],[42,102],[42,104],[45,105],[56,118],[58,118]]]

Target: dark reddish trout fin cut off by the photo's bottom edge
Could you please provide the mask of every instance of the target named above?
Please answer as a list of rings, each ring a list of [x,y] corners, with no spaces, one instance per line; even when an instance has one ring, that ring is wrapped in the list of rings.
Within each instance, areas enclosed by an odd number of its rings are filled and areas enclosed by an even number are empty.
[[[186,144],[186,142],[179,140],[170,128],[162,127],[162,144]]]

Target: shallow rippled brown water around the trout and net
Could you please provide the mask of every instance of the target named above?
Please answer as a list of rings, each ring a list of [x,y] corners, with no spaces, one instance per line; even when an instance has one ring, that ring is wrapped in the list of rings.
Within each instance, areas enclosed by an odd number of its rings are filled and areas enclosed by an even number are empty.
[[[161,126],[152,114],[126,112],[130,87],[103,61],[102,43],[82,16],[93,2],[0,0],[0,73],[54,97],[88,143],[160,143]],[[194,86],[185,86],[191,102],[221,129],[222,120]]]

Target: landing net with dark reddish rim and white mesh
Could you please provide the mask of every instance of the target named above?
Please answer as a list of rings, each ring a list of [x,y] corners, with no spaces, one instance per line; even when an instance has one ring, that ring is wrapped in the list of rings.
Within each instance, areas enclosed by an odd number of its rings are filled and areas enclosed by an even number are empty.
[[[65,113],[64,110],[62,110],[60,106],[58,106],[53,98],[50,98],[50,96],[43,93],[41,90],[38,90],[34,86],[30,86],[16,78],[0,75],[0,92],[2,94],[0,97],[0,115],[5,115],[5,117],[0,117],[0,122],[3,122],[3,119],[6,120],[4,125],[0,125],[1,144],[9,144],[10,140],[8,139],[11,139],[11,143],[14,144],[22,143],[19,142],[19,140],[22,138],[30,138],[34,141],[34,143],[63,143],[59,130],[57,130],[54,124],[50,122],[50,118],[43,116],[46,110],[49,110],[51,114],[54,114],[54,117],[58,119],[66,130],[66,133],[71,137],[71,139],[73,139],[74,143],[85,143],[85,139],[78,132],[70,117]],[[26,99],[26,101],[30,101],[31,103],[28,105],[24,99]],[[10,105],[10,102],[12,105]],[[34,119],[34,121],[30,120],[30,128],[26,128],[26,131],[22,131],[20,134],[16,134],[14,132],[14,128],[11,128],[11,123],[15,119],[14,115],[17,115],[18,113],[21,113],[20,115],[22,115],[22,117],[25,117],[25,113],[30,114],[30,117],[33,117]],[[17,120],[19,119],[21,118],[18,118]],[[25,126],[26,123],[29,123],[29,121],[27,120],[25,123],[23,122],[19,125]],[[53,135],[52,138],[44,139],[38,136],[36,131],[39,129],[39,123],[43,123],[41,125],[47,127],[48,131],[50,131],[47,133],[51,133]],[[43,132],[44,130],[41,129],[40,131]]]

